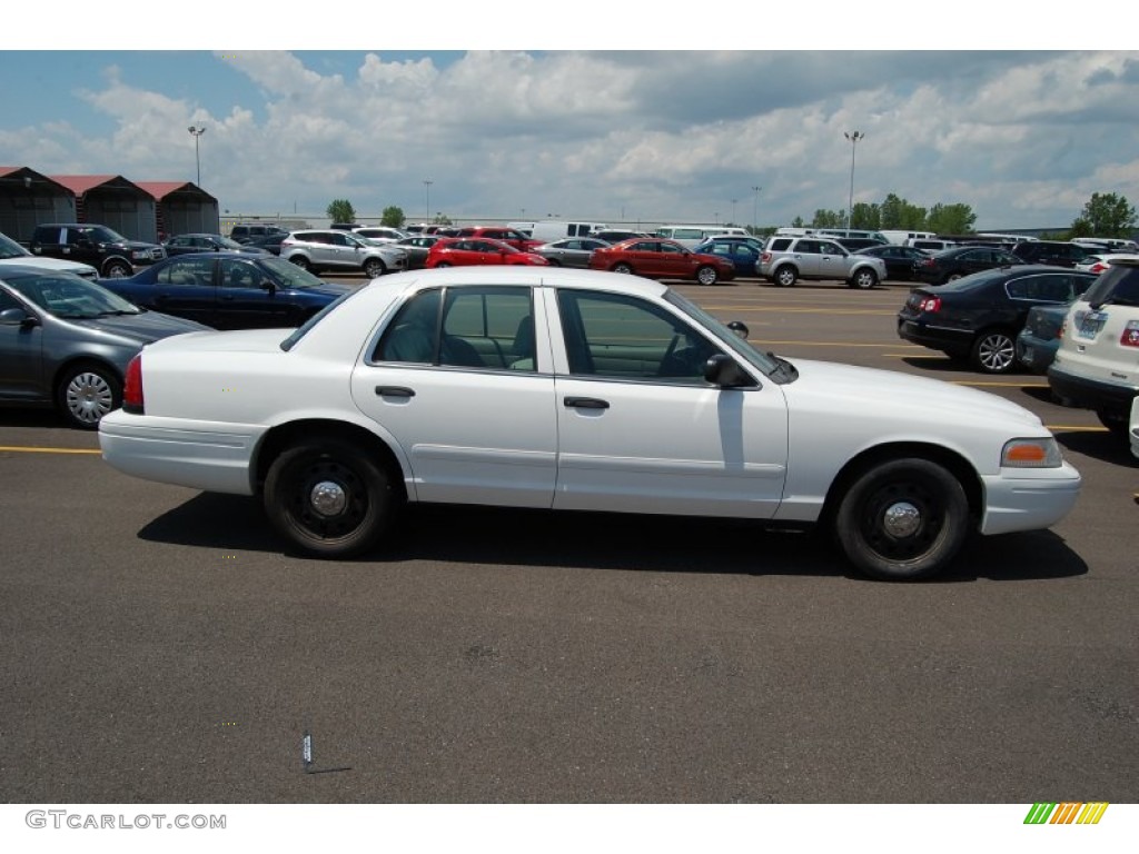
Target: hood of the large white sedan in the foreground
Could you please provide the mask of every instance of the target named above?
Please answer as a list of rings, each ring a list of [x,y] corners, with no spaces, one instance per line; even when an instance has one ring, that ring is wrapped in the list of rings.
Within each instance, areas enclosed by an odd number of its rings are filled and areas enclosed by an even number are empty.
[[[782,386],[792,412],[829,413],[850,425],[883,421],[899,435],[911,427],[982,432],[992,428],[1023,436],[1047,433],[1024,407],[989,392],[899,371],[859,368],[806,359],[792,360],[798,379]],[[839,428],[842,424],[838,425]]]

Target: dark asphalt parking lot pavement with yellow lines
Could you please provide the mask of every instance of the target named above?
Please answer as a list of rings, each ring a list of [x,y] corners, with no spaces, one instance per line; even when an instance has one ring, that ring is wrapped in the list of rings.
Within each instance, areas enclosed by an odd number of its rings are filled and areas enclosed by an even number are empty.
[[[0,410],[0,799],[1139,800],[1125,445],[1043,377],[903,343],[902,285],[677,288],[792,361],[1027,407],[1083,475],[1075,510],[923,584],[819,534],[490,509],[416,508],[391,549],[316,561],[254,500]]]

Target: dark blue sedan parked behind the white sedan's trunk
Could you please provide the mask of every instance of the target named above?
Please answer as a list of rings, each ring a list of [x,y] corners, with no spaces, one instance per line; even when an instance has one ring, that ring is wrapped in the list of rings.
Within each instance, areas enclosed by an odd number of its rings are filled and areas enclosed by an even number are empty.
[[[137,276],[99,284],[136,305],[214,329],[301,326],[351,290],[276,255],[230,252],[178,255]]]

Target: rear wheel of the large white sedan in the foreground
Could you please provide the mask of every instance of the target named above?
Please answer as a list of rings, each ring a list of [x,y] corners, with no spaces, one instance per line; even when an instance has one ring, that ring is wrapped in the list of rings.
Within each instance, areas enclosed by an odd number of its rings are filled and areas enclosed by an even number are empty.
[[[320,558],[347,558],[374,547],[396,503],[384,468],[359,446],[333,437],[305,441],[273,460],[263,500],[278,533]]]

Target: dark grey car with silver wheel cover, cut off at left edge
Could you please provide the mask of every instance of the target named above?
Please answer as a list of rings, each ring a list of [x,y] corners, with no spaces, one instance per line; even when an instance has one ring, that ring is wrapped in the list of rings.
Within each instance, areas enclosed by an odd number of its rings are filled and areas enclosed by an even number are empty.
[[[0,268],[0,402],[54,407],[93,429],[122,403],[144,344],[206,327],[146,311],[101,285],[35,264]]]

